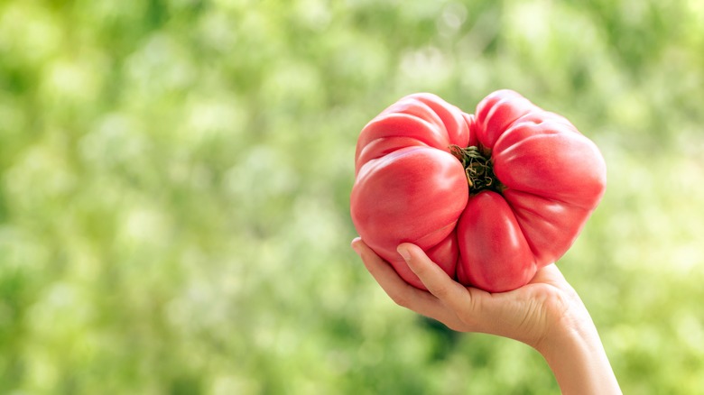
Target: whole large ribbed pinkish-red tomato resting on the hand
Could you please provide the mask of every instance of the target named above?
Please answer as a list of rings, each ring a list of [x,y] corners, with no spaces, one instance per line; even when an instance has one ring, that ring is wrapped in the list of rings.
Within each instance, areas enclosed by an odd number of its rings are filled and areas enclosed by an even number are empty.
[[[355,163],[357,232],[420,289],[399,243],[462,284],[516,289],[567,252],[606,188],[597,146],[511,90],[486,96],[476,115],[403,97],[366,124]]]

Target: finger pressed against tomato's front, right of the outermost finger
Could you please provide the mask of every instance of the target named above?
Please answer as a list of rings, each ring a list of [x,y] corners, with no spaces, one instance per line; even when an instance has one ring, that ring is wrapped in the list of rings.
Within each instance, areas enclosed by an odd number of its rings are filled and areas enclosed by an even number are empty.
[[[412,243],[403,243],[398,246],[398,253],[421,279],[425,288],[443,304],[458,312],[467,312],[475,308],[475,300],[472,299],[470,289],[450,279],[448,274],[432,262],[420,247]]]

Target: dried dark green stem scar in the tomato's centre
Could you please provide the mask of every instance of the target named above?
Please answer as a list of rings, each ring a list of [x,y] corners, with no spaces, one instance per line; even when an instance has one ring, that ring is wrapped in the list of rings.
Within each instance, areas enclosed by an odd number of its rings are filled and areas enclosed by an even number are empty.
[[[505,186],[494,174],[494,163],[491,161],[490,154],[483,154],[485,150],[475,146],[462,148],[452,144],[449,146],[449,152],[455,155],[462,162],[462,167],[465,168],[469,195],[477,195],[482,190],[501,193],[505,189]]]

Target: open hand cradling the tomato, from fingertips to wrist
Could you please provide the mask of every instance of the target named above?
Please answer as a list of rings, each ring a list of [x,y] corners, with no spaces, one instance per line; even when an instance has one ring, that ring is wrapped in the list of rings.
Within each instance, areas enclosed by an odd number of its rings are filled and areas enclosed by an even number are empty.
[[[426,292],[401,279],[361,239],[355,239],[352,246],[396,304],[456,331],[501,335],[538,348],[551,331],[573,325],[571,321],[583,318],[581,312],[586,310],[554,264],[542,268],[522,288],[492,294],[450,279],[420,247],[403,243],[399,253],[403,256],[403,250],[407,252],[406,261],[430,291]]]

